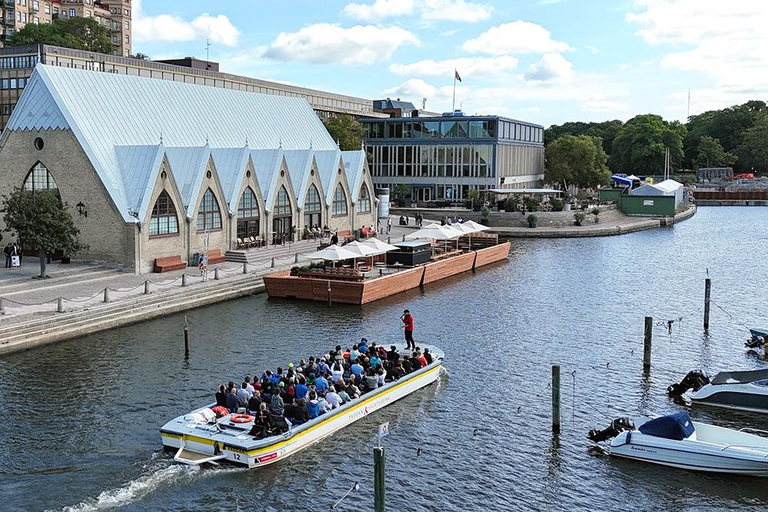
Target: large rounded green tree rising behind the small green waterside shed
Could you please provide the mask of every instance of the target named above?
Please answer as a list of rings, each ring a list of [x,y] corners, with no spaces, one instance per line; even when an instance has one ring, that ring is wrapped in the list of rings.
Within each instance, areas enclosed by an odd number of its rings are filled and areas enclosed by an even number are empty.
[[[685,126],[665,122],[660,116],[635,116],[624,125],[613,141],[609,166],[628,174],[660,174],[664,171],[665,148],[670,152],[670,168],[683,161]]]

